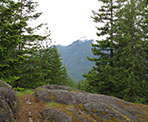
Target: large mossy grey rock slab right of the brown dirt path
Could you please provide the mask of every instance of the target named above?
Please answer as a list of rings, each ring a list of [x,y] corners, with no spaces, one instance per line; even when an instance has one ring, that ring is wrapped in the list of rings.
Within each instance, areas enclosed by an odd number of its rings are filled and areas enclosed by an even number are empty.
[[[148,106],[111,96],[56,85],[39,87],[34,96],[56,103],[41,112],[45,122],[148,122]]]

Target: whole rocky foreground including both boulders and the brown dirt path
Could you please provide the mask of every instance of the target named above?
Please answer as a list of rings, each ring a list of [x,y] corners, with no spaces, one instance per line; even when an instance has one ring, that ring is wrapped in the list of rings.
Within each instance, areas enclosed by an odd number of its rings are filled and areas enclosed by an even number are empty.
[[[15,92],[0,80],[0,122],[16,122],[17,115],[17,122],[148,122],[146,105],[66,86],[44,85],[19,100],[21,114]]]

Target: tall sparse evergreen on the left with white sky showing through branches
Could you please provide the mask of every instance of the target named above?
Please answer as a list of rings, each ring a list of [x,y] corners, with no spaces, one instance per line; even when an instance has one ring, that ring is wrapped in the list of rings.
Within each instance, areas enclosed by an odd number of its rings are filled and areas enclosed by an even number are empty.
[[[38,65],[40,63],[38,60],[38,54],[43,48],[42,42],[46,40],[49,41],[50,33],[48,32],[48,28],[46,28],[46,35],[36,34],[34,32],[42,29],[45,24],[41,23],[35,27],[32,27],[30,24],[31,21],[37,20],[41,15],[41,13],[36,12],[36,7],[38,4],[32,0],[19,0],[19,2],[21,6],[17,11],[18,21],[23,22],[24,26],[19,29],[22,42],[18,45],[18,53],[23,57],[24,55],[27,55],[26,58],[29,60],[22,58],[23,63],[18,65],[18,70],[23,69],[21,73],[22,75],[20,76],[20,79],[17,80],[13,85],[14,87],[18,87],[20,84],[23,84],[22,82],[25,83],[28,80],[26,78],[29,77],[29,79],[32,79],[32,84],[40,85],[44,74],[41,73],[41,67]],[[32,73],[27,72],[30,70]],[[30,84],[30,86],[32,85]]]

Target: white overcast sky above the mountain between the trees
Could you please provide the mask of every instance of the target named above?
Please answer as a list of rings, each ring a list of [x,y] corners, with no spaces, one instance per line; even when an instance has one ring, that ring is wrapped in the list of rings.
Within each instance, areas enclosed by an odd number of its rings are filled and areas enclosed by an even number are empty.
[[[51,39],[56,44],[68,45],[86,36],[96,38],[91,10],[97,10],[98,0],[34,0],[43,12],[40,21],[48,23]]]

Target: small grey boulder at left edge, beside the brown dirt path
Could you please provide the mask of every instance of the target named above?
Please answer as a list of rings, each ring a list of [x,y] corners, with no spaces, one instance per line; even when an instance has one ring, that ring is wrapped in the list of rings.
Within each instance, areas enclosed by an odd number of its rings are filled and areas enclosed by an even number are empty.
[[[15,122],[18,106],[11,86],[0,80],[0,122]]]

